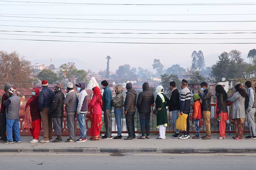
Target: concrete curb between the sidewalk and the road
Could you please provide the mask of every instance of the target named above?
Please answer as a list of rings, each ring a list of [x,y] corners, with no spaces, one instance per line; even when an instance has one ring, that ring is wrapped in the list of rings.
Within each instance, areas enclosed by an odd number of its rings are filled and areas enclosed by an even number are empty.
[[[256,153],[256,148],[10,148],[0,152],[44,153]]]

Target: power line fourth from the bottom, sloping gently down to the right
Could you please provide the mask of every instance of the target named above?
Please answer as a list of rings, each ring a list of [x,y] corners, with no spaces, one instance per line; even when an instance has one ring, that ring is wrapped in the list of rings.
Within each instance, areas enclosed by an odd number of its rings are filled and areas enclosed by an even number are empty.
[[[133,30],[133,31],[256,31],[256,30],[159,30],[159,29],[107,29],[107,28],[72,28],[72,27],[51,27],[51,26],[16,26],[16,25],[0,25],[0,26],[32,27],[32,28],[88,29],[88,30]]]

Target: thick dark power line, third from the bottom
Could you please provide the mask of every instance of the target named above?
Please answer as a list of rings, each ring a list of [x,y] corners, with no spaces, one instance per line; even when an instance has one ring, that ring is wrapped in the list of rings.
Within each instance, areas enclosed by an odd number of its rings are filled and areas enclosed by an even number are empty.
[[[58,32],[58,31],[7,31],[0,32],[22,32],[22,33],[100,33],[100,32]],[[256,32],[236,32],[236,33],[100,33],[100,34],[237,34],[237,33],[256,33]]]

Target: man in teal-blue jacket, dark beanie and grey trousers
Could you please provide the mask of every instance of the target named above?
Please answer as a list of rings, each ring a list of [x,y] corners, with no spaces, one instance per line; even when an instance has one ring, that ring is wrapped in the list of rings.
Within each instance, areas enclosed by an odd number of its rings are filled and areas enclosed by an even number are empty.
[[[108,80],[103,80],[101,86],[104,89],[102,95],[102,110],[104,112],[104,124],[106,133],[102,139],[113,139],[112,138],[112,123],[111,123],[111,110],[112,110],[112,92],[109,88]]]

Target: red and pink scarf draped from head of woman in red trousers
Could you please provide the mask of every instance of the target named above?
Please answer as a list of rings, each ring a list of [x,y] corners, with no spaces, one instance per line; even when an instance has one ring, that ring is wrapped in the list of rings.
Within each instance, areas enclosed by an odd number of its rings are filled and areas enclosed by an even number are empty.
[[[35,96],[32,96],[30,99],[28,99],[27,103],[26,103],[26,107],[25,107],[25,120],[24,120],[24,129],[32,129],[32,117],[31,117],[31,113],[30,113],[30,103],[31,101],[33,101],[34,99],[36,99],[39,96],[39,88],[33,88],[36,92]]]

